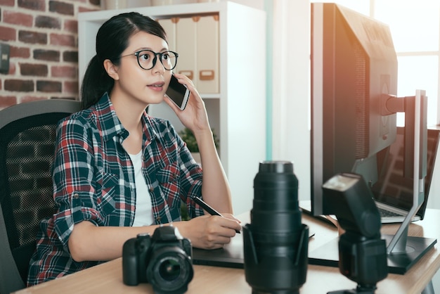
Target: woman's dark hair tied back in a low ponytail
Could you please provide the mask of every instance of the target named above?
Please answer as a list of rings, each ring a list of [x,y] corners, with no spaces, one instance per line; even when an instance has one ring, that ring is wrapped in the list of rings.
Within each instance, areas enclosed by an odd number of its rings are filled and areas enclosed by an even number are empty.
[[[118,58],[127,49],[129,38],[136,32],[154,34],[167,41],[167,34],[157,21],[136,12],[115,15],[99,28],[96,34],[96,55],[91,58],[82,81],[82,109],[89,108],[106,91],[112,89],[115,82],[108,76],[103,62],[110,59],[119,65]]]

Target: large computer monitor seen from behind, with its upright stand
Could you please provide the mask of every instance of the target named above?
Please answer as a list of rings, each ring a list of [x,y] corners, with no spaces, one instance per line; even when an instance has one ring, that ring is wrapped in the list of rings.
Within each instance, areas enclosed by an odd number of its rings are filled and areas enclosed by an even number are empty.
[[[361,174],[373,187],[383,174],[378,155],[396,139],[396,113],[405,112],[405,164],[414,179],[414,205],[387,248],[387,253],[403,248],[405,255],[407,238],[400,237],[424,195],[427,99],[424,91],[397,97],[397,66],[387,25],[337,4],[311,4],[311,212],[335,214],[322,190],[335,174]],[[398,241],[403,244],[396,246]],[[420,254],[431,247],[429,241]]]

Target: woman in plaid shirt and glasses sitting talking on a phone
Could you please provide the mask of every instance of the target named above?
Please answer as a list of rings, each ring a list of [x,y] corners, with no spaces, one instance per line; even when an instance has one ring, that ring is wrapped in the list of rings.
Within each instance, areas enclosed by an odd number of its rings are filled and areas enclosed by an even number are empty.
[[[174,58],[175,57],[175,58]],[[162,225],[176,226],[198,248],[221,248],[240,230],[216,153],[205,105],[190,79],[181,111],[164,96],[177,56],[163,28],[139,13],[105,22],[84,75],[84,110],[60,122],[53,165],[58,212],[41,222],[28,285],[122,255],[122,245]],[[195,134],[203,172],[165,120],[145,108],[162,100]],[[204,215],[202,197],[226,217]],[[181,200],[192,217],[181,222]]]

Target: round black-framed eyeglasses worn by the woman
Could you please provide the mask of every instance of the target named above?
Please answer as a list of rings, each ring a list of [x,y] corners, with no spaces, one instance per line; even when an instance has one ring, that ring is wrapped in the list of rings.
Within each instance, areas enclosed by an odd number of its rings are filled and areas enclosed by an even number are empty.
[[[132,55],[136,56],[136,58],[138,59],[138,65],[144,70],[151,70],[155,67],[157,56],[159,56],[160,63],[162,63],[165,70],[173,70],[174,68],[176,68],[177,58],[179,57],[179,54],[174,51],[164,51],[156,53],[154,51],[145,49],[121,56],[119,58]]]

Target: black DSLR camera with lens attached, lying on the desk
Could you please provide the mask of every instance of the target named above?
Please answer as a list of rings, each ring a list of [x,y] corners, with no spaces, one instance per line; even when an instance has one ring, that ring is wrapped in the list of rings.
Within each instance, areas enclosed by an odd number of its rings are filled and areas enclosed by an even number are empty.
[[[122,248],[124,284],[151,283],[155,293],[180,294],[193,279],[193,249],[174,226],[161,226],[153,236],[139,234]]]

